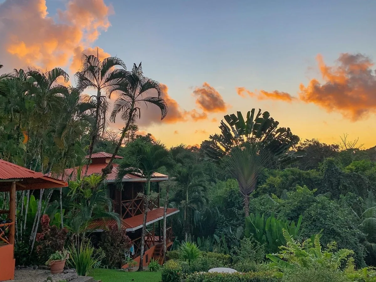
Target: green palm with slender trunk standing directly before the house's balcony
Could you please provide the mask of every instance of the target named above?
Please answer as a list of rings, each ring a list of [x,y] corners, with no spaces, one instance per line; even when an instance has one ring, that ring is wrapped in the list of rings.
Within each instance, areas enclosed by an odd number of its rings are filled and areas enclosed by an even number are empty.
[[[128,144],[123,161],[118,167],[118,183],[127,173],[139,173],[146,178],[146,186],[144,187],[144,218],[141,232],[141,254],[139,271],[143,270],[144,259],[144,245],[146,233],[146,217],[149,211],[150,200],[150,181],[153,174],[162,167],[169,170],[173,167],[174,161],[171,158],[170,152],[166,150],[165,146],[159,143],[145,143],[136,140]]]

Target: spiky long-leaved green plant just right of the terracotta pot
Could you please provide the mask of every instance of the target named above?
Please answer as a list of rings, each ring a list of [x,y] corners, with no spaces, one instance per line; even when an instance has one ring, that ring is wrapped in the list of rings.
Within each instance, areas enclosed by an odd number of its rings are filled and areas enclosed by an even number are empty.
[[[86,276],[98,264],[102,256],[91,246],[90,242],[81,244],[79,248],[72,246],[68,263],[76,269],[77,274]]]

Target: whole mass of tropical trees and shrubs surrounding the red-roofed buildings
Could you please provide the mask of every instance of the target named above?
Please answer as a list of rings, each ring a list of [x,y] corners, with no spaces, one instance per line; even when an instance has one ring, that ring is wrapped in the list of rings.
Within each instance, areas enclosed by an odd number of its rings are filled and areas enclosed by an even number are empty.
[[[172,223],[163,281],[376,280],[376,147],[362,150],[346,138],[299,142],[269,112],[252,109],[246,117],[225,115],[221,132],[199,147],[167,149],[150,133],[138,133],[145,111],[157,107],[163,119],[168,110],[162,85],[141,64],[127,71],[120,58],[83,55],[76,87],[68,82],[61,68],[0,75],[0,158],[69,183],[17,192],[17,264],[43,264],[68,249],[68,263],[82,275],[134,263],[128,257],[134,242],[121,229],[103,181],[116,165],[119,190],[128,173],[145,181],[137,195],[144,205],[141,260],[152,230],[149,205],[157,197],[164,206],[163,253]],[[124,123],[119,131],[108,127],[115,120]],[[65,173],[102,151],[112,155],[102,173],[88,175],[88,166]],[[115,155],[124,158],[115,161]],[[156,173],[168,180],[152,182]],[[0,193],[0,209],[9,208],[8,194]],[[167,217],[167,208],[180,212]],[[0,223],[7,220],[0,214]],[[152,260],[149,269],[158,265]],[[244,274],[194,274],[214,267]]]

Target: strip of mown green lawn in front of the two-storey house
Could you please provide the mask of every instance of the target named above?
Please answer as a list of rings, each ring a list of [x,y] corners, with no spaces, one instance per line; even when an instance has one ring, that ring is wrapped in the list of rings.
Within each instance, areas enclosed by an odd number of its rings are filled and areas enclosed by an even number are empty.
[[[90,271],[89,276],[103,282],[160,282],[161,272],[126,272],[116,269],[97,268]]]

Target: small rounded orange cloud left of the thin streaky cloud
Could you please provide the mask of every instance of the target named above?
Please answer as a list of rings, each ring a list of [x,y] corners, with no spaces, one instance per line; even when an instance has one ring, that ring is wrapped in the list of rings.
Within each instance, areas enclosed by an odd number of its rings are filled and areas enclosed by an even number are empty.
[[[221,94],[208,82],[204,82],[201,87],[193,90],[196,97],[196,104],[206,112],[225,112],[228,105],[224,102]]]

